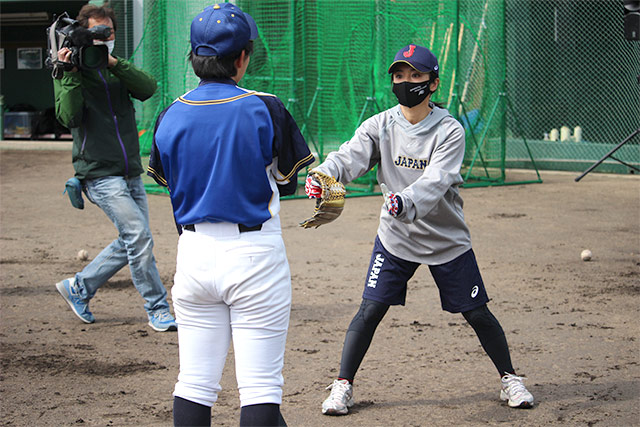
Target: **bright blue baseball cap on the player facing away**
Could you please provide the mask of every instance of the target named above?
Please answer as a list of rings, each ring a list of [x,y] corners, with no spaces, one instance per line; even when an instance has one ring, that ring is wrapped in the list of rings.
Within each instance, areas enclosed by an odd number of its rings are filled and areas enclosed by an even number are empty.
[[[191,22],[191,50],[195,55],[229,56],[257,38],[256,22],[232,3],[207,6]]]

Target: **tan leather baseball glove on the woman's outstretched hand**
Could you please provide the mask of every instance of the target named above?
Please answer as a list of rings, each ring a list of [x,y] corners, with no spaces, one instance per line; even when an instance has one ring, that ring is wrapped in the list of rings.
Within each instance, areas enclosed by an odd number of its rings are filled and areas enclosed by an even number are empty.
[[[316,199],[316,207],[311,218],[300,223],[300,227],[311,228],[320,227],[335,220],[342,213],[344,208],[344,196],[347,194],[342,183],[334,177],[325,175],[322,172],[311,171],[309,176],[312,180],[320,183],[322,192]]]

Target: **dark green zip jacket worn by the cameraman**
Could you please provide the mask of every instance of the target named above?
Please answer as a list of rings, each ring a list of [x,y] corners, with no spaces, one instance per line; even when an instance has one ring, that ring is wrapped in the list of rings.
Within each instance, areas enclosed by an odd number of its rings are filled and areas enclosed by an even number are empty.
[[[109,69],[65,72],[54,79],[56,116],[73,134],[73,167],[80,180],[143,173],[135,111],[156,80],[122,58]]]

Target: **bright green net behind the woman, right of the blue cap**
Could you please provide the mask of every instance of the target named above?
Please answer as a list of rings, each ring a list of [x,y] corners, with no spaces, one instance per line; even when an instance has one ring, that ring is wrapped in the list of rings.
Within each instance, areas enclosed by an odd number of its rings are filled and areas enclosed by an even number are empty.
[[[396,104],[387,67],[406,44],[425,45],[437,55],[441,86],[434,100],[463,115],[473,126],[470,132],[482,130],[482,117],[490,114],[501,91],[505,74],[501,2],[238,4],[256,19],[262,33],[259,44],[266,53],[258,66],[250,67],[244,84],[286,99],[319,159],[349,139],[363,120]],[[484,123],[488,123],[485,138],[480,141],[479,135],[476,145],[468,144],[465,164],[470,169],[478,152],[482,178],[500,180],[505,149],[504,139],[496,136],[504,124],[501,119]],[[474,178],[467,174],[467,179]],[[352,191],[371,192],[373,173],[355,184]]]

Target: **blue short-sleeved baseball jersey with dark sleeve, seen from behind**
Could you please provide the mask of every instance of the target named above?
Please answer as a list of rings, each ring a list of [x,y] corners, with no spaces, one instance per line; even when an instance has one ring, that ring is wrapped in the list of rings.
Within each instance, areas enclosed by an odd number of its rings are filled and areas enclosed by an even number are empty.
[[[169,188],[177,224],[255,226],[313,161],[280,99],[207,80],[158,116],[148,174]]]

